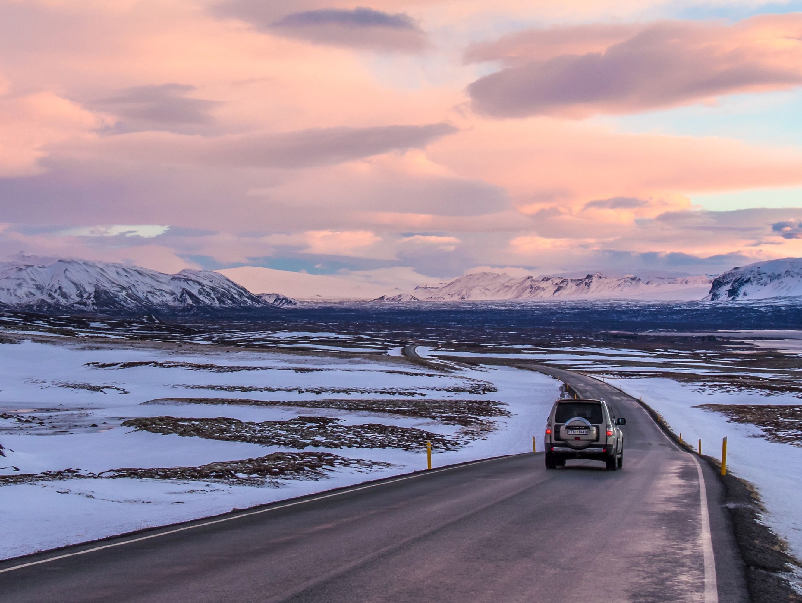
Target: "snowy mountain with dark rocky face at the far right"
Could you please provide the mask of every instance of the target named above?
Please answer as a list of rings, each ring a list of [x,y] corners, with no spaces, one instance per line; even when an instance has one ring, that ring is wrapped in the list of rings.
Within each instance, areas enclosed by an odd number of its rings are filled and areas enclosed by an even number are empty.
[[[768,299],[802,295],[802,258],[733,268],[716,278],[708,299]]]

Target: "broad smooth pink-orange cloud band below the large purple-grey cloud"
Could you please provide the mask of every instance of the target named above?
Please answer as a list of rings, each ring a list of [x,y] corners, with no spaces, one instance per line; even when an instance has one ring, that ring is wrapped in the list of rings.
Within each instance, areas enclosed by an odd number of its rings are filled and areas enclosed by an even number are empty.
[[[545,117],[480,120],[431,145],[427,156],[458,176],[503,187],[527,213],[554,205],[579,210],[588,202],[617,197],[675,198],[802,185],[802,150],[793,147],[621,133]]]

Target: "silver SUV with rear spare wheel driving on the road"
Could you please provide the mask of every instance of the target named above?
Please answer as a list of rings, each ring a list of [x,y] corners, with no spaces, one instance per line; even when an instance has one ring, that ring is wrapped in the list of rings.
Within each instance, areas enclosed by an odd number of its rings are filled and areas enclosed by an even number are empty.
[[[607,471],[624,466],[624,432],[619,428],[626,419],[615,413],[604,400],[554,402],[546,423],[546,469],[565,466],[569,458],[604,461]]]

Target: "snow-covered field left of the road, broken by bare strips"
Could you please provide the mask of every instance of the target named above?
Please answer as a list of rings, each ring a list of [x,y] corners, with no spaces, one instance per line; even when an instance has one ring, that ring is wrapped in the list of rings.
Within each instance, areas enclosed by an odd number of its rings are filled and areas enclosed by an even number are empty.
[[[184,364],[108,369],[87,365],[151,361]],[[256,370],[221,373],[197,365]],[[301,369],[301,372],[294,369]],[[452,386],[475,382],[471,380],[489,381],[498,391],[478,395],[447,391]],[[101,391],[86,389],[93,385],[108,387]],[[487,399],[508,405],[512,416],[493,419],[497,429],[486,439],[474,440],[452,452],[435,450],[435,467],[531,450],[532,436],[544,430],[545,416],[560,386],[549,377],[518,369],[498,367],[433,373],[394,357],[345,360],[269,352],[224,353],[211,345],[201,352],[184,352],[180,348],[87,344],[67,338],[53,339],[50,343],[30,340],[5,343],[0,344],[0,415],[8,414],[11,418],[0,418],[0,445],[5,453],[5,457],[0,456],[0,475],[64,469],[98,473],[123,467],[196,467],[209,462],[260,457],[275,451],[298,452],[278,446],[152,434],[120,426],[126,419],[147,416],[227,417],[263,422],[322,415],[341,418],[349,425],[383,423],[435,434],[454,434],[458,430],[457,426],[427,418],[367,411],[281,405],[144,404],[175,397],[279,401],[326,397],[395,400],[400,397],[391,393],[329,395],[292,390],[228,393],[189,389],[182,385],[415,389],[428,398]],[[43,418],[43,425],[18,422],[15,417],[19,416]],[[0,558],[398,475],[423,469],[426,465],[423,450],[306,450],[391,462],[394,467],[372,471],[341,468],[330,471],[323,479],[282,480],[280,487],[131,478],[58,479],[0,485]]]

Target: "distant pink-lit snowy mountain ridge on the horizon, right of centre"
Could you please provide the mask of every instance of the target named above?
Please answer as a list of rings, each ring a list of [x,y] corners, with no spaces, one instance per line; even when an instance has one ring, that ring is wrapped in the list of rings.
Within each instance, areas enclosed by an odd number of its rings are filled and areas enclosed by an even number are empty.
[[[710,290],[710,277],[661,277],[644,282],[637,276],[606,276],[601,273],[581,279],[559,276],[525,276],[516,279],[506,273],[476,272],[460,276],[442,286],[416,287],[414,295],[431,301],[458,299],[554,299],[591,297],[597,299],[701,299]]]

